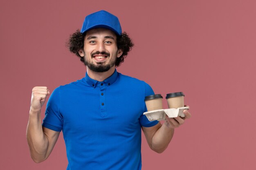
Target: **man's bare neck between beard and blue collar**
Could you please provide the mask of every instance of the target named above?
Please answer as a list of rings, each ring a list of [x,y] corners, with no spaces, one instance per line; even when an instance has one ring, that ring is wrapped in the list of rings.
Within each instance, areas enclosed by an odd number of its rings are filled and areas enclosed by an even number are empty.
[[[103,82],[105,79],[107,79],[108,77],[110,77],[113,73],[115,72],[115,66],[112,66],[108,71],[106,72],[94,72],[91,71],[88,67],[87,67],[87,74],[90,78],[95,79],[99,82]]]

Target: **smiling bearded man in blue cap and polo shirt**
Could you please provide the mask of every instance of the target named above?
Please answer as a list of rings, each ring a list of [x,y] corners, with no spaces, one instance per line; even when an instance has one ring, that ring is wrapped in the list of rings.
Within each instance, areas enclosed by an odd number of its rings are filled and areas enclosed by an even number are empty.
[[[61,130],[67,170],[140,170],[141,128],[152,150],[167,148],[184,118],[166,117],[161,125],[143,115],[144,97],[154,94],[152,88],[115,69],[132,46],[111,13],[98,11],[85,18],[81,32],[70,37],[69,48],[85,63],[86,75],[54,90],[43,127],[40,110],[50,91],[41,86],[32,90],[27,141],[35,162],[47,159]],[[184,114],[191,117],[187,110]]]

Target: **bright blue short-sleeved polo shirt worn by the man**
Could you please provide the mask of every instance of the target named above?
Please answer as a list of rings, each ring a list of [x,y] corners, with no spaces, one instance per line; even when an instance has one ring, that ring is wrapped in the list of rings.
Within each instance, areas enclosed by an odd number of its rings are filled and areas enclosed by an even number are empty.
[[[56,88],[43,126],[63,131],[67,170],[141,170],[141,126],[155,126],[144,112],[145,82],[115,72],[103,82],[83,79]]]

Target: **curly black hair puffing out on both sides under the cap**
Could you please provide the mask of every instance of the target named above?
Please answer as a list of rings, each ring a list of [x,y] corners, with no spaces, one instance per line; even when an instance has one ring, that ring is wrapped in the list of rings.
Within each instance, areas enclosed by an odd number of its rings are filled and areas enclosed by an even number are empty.
[[[78,52],[79,50],[83,49],[84,39],[85,33],[82,34],[78,29],[75,33],[70,35],[70,39],[66,44],[70,52],[80,57],[80,60],[83,63],[84,57],[81,57]],[[116,67],[120,66],[120,64],[124,62],[124,58],[128,55],[128,52],[132,50],[132,46],[134,46],[134,44],[126,32],[122,33],[121,35],[117,35],[117,49],[121,49],[123,54],[117,58],[115,62]]]

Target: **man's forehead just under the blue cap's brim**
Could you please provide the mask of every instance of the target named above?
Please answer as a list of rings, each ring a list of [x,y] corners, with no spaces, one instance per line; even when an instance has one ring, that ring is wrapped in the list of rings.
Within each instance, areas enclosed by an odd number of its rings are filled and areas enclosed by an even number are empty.
[[[85,35],[85,40],[86,38],[88,38],[89,36],[95,36],[95,37],[106,37],[106,36],[112,36],[113,38],[117,38],[117,35],[111,31],[110,29],[105,29],[105,28],[95,28],[95,29],[91,29],[89,31],[86,32]]]

